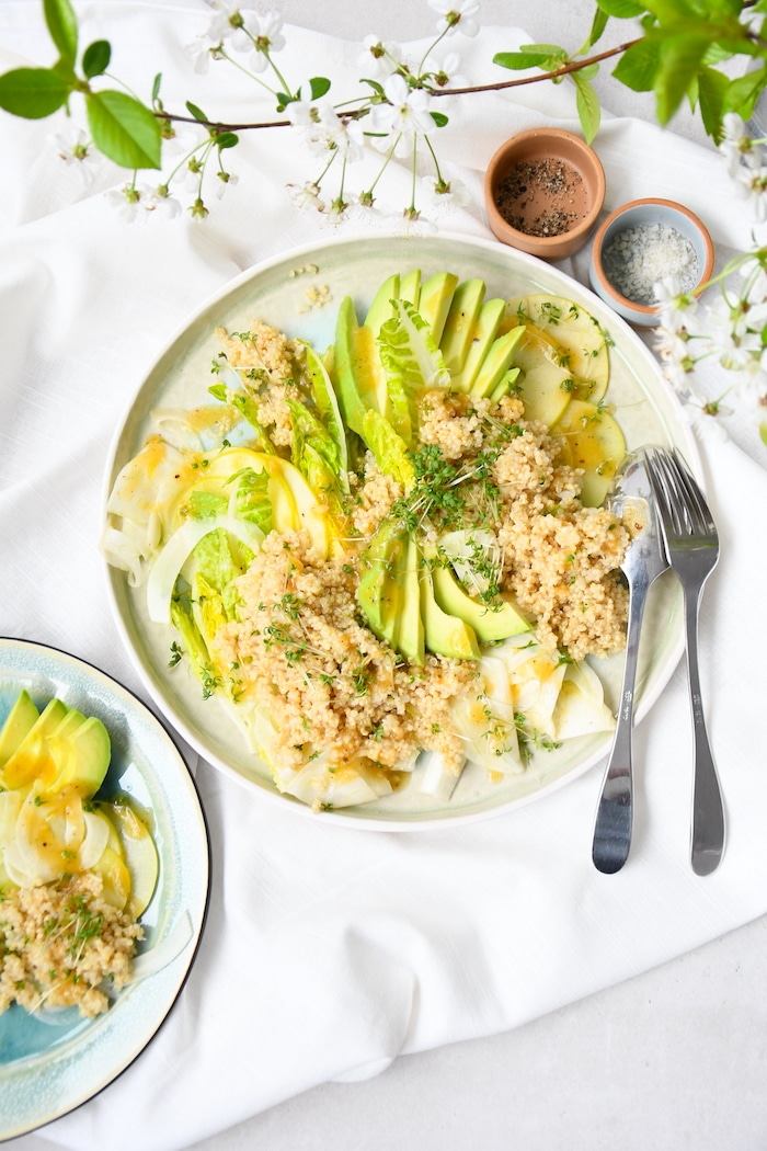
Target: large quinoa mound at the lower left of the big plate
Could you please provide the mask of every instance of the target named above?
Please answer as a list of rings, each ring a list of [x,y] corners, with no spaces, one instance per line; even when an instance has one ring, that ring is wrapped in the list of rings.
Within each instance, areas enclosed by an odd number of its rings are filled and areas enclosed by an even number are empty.
[[[448,706],[471,665],[443,656],[423,668],[404,663],[361,622],[347,557],[323,559],[305,534],[273,532],[237,584],[239,622],[220,630],[220,653],[253,699],[268,700],[279,732],[275,767],[330,753],[338,763],[363,756],[397,768],[423,747],[458,772]]]

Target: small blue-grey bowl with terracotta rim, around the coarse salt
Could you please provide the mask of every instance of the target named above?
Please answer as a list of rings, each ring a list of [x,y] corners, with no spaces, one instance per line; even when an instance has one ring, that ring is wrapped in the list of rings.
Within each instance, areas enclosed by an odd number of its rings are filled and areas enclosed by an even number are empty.
[[[635,229],[636,231],[634,231]],[[703,289],[714,267],[714,245],[708,230],[698,216],[684,205],[675,204],[673,200],[642,199],[631,200],[630,204],[624,204],[611,212],[599,226],[593,238],[589,277],[597,295],[635,328],[657,326],[660,321],[658,306],[636,298],[632,299],[628,294],[624,294],[627,292],[626,285],[616,272],[616,267],[620,265],[615,264],[614,258],[612,260],[605,259],[605,253],[609,257],[611,249],[616,242],[620,243],[621,236],[630,235],[634,231],[635,236],[643,234],[647,237],[649,229],[662,229],[666,235],[675,233],[690,245],[695,260],[690,261],[691,270],[685,274],[691,276],[691,282],[680,284],[681,290],[696,295]],[[645,241],[645,244],[647,243],[650,243],[649,239]],[[659,260],[660,257],[655,253],[651,267],[658,280],[662,280],[665,275],[677,273],[678,265],[674,264],[670,254],[667,267],[664,267]],[[626,273],[621,273],[621,275],[626,279]]]

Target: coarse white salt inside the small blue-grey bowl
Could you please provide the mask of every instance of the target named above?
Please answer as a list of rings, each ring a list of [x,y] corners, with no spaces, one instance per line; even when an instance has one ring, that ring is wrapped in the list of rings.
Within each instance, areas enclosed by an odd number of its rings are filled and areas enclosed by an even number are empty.
[[[692,291],[698,282],[698,259],[690,241],[676,228],[641,223],[627,228],[601,256],[605,275],[613,288],[635,304],[654,304],[655,284],[673,276],[676,290]]]

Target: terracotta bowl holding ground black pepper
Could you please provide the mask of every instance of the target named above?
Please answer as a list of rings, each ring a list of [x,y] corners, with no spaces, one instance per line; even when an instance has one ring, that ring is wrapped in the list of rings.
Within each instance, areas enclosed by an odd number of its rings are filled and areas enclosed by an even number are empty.
[[[531,128],[494,153],[484,192],[497,239],[544,260],[562,260],[593,231],[605,200],[605,171],[578,136]]]

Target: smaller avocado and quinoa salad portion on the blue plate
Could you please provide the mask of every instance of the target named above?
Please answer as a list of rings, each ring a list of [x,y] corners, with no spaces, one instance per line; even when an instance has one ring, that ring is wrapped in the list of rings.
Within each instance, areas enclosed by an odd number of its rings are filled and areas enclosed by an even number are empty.
[[[98,798],[105,724],[26,688],[0,725],[0,1014],[92,1017],[131,980],[159,856],[128,795]]]

